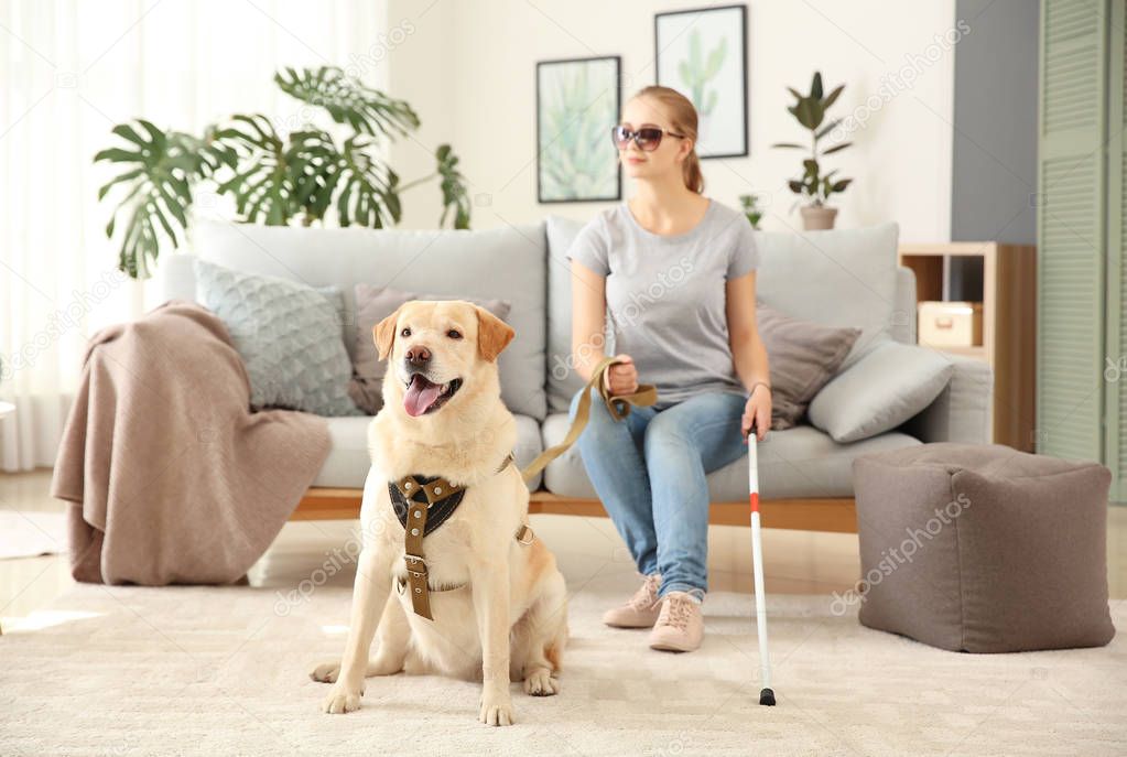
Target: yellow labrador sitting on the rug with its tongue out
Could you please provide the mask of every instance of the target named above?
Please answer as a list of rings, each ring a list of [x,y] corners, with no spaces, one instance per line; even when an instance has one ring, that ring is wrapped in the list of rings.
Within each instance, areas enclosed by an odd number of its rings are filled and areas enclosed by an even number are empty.
[[[514,331],[469,302],[412,301],[376,324],[374,337],[390,364],[384,406],[369,429],[372,467],[348,638],[339,664],[310,675],[332,683],[322,704],[330,713],[360,707],[365,676],[403,670],[480,679],[479,719],[508,725],[511,679],[535,696],[559,691],[553,674],[568,633],[556,558],[521,529],[527,486],[515,462],[498,472],[516,443],[496,363]],[[424,540],[433,621],[414,612],[409,585],[403,590],[405,527],[389,482],[409,474],[465,486],[458,508]]]

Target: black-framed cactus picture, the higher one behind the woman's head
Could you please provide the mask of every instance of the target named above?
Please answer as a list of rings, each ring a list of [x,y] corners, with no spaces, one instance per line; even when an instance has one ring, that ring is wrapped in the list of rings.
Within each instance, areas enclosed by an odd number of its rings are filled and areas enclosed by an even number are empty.
[[[696,154],[747,154],[747,7],[654,17],[657,83],[683,93],[700,118]]]

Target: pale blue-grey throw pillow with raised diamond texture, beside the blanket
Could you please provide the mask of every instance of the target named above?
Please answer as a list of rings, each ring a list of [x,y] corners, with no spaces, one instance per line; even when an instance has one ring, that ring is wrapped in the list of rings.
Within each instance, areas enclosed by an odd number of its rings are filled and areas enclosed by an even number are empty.
[[[196,259],[196,297],[231,332],[255,410],[363,415],[348,399],[352,366],[340,339],[341,294]]]

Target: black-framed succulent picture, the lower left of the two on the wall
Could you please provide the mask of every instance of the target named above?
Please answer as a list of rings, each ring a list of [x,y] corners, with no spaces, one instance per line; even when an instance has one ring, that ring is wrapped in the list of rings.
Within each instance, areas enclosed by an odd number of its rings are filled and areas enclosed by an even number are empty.
[[[536,197],[621,199],[611,127],[622,106],[618,55],[536,63]]]

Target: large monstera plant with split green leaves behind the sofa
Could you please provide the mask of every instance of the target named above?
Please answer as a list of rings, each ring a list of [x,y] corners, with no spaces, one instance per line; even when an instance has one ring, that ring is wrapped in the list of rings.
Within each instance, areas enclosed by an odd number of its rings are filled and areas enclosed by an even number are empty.
[[[419,118],[407,103],[331,66],[285,69],[274,81],[323,110],[344,127],[337,131],[349,133],[338,141],[311,124],[279,133],[260,114],[232,115],[201,136],[162,131],[140,118],[113,128],[119,144],[94,160],[119,170],[98,199],[117,196],[106,235],[119,234],[121,270],[147,277],[162,247],[178,247],[195,194],[205,186],[231,196],[245,223],[311,225],[335,215],[341,226],[383,229],[399,222],[405,189],[437,178],[443,203],[438,225],[452,221],[455,229],[469,228],[469,195],[450,145],[435,151],[432,175],[407,184],[379,157],[388,142],[418,128]]]

